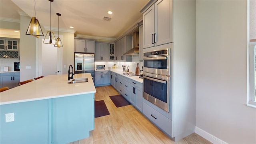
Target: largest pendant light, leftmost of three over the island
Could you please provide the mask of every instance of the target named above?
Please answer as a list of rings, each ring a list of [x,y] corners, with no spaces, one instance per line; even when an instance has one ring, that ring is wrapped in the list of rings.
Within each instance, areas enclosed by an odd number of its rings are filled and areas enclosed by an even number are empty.
[[[34,8],[35,8],[35,16],[32,17],[30,21],[26,35],[32,35],[39,38],[39,36],[44,36],[44,33],[42,32],[42,28],[39,24],[38,19],[36,19],[36,0],[35,0]]]

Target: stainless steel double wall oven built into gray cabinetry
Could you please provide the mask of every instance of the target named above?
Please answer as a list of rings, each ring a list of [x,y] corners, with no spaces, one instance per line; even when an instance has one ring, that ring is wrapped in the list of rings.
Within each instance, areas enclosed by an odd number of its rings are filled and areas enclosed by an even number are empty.
[[[152,49],[144,49],[143,98],[170,112],[172,48]]]

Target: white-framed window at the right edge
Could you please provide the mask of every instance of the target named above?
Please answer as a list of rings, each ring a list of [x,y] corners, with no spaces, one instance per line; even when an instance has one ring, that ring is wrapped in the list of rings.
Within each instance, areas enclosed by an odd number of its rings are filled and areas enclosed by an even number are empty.
[[[256,0],[248,0],[248,22],[250,95],[247,105],[256,108]]]

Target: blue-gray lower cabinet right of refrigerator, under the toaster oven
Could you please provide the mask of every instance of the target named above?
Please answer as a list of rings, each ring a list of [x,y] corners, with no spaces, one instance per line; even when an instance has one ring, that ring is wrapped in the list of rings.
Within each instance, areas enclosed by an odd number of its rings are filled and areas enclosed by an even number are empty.
[[[109,85],[109,71],[95,71],[95,86]]]

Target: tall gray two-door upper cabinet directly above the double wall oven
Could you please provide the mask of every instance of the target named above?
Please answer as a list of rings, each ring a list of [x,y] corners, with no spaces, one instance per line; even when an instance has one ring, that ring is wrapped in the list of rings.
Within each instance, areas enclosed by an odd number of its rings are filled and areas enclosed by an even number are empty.
[[[143,38],[143,48],[173,42],[171,0],[158,0],[143,13]]]

